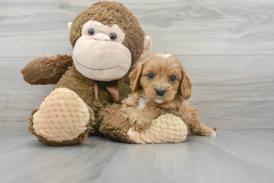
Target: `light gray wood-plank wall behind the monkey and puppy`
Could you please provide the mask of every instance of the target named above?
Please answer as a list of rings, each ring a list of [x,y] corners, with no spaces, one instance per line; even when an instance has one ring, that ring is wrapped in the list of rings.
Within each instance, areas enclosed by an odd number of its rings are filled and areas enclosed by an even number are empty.
[[[220,129],[274,129],[273,0],[119,0],[152,50],[188,71],[190,102]],[[0,0],[0,128],[26,129],[54,86],[30,86],[20,70],[37,57],[72,54],[67,23],[96,0]]]

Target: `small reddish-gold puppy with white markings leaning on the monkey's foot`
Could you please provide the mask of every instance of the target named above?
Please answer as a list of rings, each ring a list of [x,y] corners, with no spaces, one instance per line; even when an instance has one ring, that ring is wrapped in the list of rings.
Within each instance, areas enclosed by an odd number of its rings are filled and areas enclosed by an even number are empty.
[[[157,52],[138,63],[130,74],[130,94],[121,111],[135,131],[143,132],[150,121],[161,114],[179,116],[187,125],[188,136],[216,136],[215,128],[199,121],[196,109],[187,99],[192,84],[181,62],[172,54]]]

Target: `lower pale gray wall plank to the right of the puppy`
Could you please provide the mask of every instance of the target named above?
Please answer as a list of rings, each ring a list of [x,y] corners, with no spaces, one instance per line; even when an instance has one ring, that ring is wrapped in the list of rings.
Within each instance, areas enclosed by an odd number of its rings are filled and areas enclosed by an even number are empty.
[[[200,120],[224,129],[274,128],[274,56],[177,56]]]

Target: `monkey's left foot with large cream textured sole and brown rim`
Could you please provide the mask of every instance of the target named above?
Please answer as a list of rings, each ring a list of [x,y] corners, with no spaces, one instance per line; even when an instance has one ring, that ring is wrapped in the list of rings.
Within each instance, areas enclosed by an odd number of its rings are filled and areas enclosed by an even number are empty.
[[[74,91],[58,88],[45,98],[39,109],[32,110],[29,120],[28,129],[38,139],[67,146],[87,139],[94,113]]]

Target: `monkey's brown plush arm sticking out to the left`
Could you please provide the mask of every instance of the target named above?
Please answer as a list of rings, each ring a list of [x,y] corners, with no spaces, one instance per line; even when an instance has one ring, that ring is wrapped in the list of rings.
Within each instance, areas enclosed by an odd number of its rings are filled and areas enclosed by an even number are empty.
[[[21,70],[21,74],[30,85],[56,84],[72,65],[72,56],[57,54],[34,59]]]

